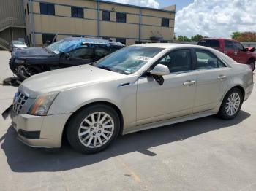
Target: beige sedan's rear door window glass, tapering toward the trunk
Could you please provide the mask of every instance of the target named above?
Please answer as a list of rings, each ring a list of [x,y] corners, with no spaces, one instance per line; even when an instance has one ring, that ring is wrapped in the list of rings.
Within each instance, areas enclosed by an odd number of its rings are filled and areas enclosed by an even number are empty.
[[[215,55],[206,50],[195,50],[197,55],[197,69],[216,69],[225,67],[225,64]]]

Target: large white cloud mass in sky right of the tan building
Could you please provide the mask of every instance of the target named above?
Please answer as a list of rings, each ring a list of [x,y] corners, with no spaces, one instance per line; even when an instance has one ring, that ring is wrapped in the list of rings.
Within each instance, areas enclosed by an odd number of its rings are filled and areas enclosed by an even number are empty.
[[[176,13],[176,35],[230,37],[256,31],[255,0],[195,0]]]

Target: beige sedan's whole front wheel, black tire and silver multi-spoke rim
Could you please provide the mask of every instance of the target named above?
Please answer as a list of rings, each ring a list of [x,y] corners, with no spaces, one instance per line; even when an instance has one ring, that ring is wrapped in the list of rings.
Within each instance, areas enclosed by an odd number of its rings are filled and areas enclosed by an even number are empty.
[[[94,121],[91,116],[94,116]],[[81,109],[71,118],[67,140],[77,152],[92,154],[109,147],[119,130],[120,120],[116,110],[108,105],[96,104]]]

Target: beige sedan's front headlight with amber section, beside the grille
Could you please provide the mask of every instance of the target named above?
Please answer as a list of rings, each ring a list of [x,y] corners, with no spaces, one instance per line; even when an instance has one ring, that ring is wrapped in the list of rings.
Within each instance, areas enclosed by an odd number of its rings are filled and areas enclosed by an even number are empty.
[[[31,109],[29,109],[29,114],[46,115],[58,94],[59,92],[50,92],[39,95],[31,106]]]

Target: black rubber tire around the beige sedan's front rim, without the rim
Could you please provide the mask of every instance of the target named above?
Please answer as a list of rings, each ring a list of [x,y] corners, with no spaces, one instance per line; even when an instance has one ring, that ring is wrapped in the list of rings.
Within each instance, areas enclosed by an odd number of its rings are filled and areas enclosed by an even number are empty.
[[[78,133],[80,130],[80,125],[86,119],[86,117],[88,117],[90,114],[94,114],[96,112],[104,112],[104,113],[108,114],[110,117],[112,117],[114,128],[113,128],[112,136],[110,136],[110,139],[108,139],[108,141],[106,141],[105,144],[103,144],[100,147],[90,148],[90,147],[86,147],[86,145],[84,145],[80,141],[80,137],[78,136]],[[95,105],[86,107],[84,109],[81,109],[77,114],[72,116],[72,118],[68,124],[68,127],[67,127],[67,140],[69,141],[69,144],[77,152],[81,152],[84,154],[93,154],[96,152],[101,152],[102,150],[109,147],[110,144],[112,144],[113,141],[115,141],[115,139],[117,138],[119,130],[120,130],[120,120],[119,120],[116,110],[108,105],[105,105],[105,104],[95,104]]]

